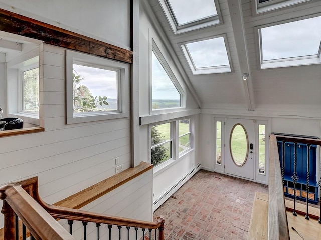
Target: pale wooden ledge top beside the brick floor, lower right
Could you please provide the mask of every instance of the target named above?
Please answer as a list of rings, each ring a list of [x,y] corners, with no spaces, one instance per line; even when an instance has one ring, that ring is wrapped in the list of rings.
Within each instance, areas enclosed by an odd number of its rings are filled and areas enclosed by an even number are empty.
[[[264,198],[264,199],[262,199]],[[255,192],[248,240],[267,239],[268,195]]]

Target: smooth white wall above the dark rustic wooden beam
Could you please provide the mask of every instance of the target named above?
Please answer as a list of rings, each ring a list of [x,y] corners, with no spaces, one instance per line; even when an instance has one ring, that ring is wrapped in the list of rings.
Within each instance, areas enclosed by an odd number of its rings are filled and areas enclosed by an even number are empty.
[[[129,0],[0,0],[0,8],[129,49]]]

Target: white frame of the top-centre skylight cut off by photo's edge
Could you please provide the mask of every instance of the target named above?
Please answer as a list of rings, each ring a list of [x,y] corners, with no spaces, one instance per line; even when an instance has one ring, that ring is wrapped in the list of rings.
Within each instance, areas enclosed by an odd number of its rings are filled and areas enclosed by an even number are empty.
[[[200,19],[197,21],[193,21],[191,23],[186,23],[182,25],[178,25],[176,23],[176,19],[174,16],[174,13],[172,13],[170,7],[168,6],[166,0],[158,0],[159,4],[161,4],[163,11],[166,15],[166,18],[168,19],[170,26],[174,32],[174,34],[180,34],[188,31],[193,31],[196,29],[200,29],[203,27],[216,25],[216,24],[223,24],[223,18],[220,10],[220,5],[218,3],[218,0],[214,0],[217,16],[208,17],[205,19]]]

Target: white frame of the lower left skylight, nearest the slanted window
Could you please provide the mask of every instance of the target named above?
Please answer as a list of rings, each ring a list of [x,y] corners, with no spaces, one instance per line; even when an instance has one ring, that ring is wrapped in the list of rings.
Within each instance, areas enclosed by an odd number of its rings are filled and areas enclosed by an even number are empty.
[[[213,66],[213,67],[203,67],[203,68],[196,68],[193,62],[193,59],[186,47],[186,44],[192,43],[192,42],[198,42],[198,41],[204,41],[204,40],[209,40],[209,39],[214,39],[214,38],[219,38],[223,37],[224,43],[225,43],[225,49],[227,52],[227,57],[229,60],[229,65],[224,65],[224,66]],[[229,73],[233,72],[233,67],[232,67],[232,60],[231,60],[231,54],[230,54],[230,49],[227,44],[227,36],[226,34],[223,35],[216,35],[216,36],[211,36],[211,37],[206,37],[206,38],[201,38],[193,41],[185,41],[178,43],[178,45],[181,47],[183,51],[183,55],[185,56],[185,59],[187,63],[190,66],[190,69],[192,71],[193,75],[202,75],[202,74],[215,74],[215,73]]]

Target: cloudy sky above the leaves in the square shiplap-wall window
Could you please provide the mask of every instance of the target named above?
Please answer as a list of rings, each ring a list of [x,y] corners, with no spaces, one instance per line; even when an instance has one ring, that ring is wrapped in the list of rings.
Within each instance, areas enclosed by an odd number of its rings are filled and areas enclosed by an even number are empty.
[[[92,96],[117,98],[117,72],[73,64],[73,69],[84,78],[80,84],[89,88]],[[75,73],[77,75],[77,73]]]

